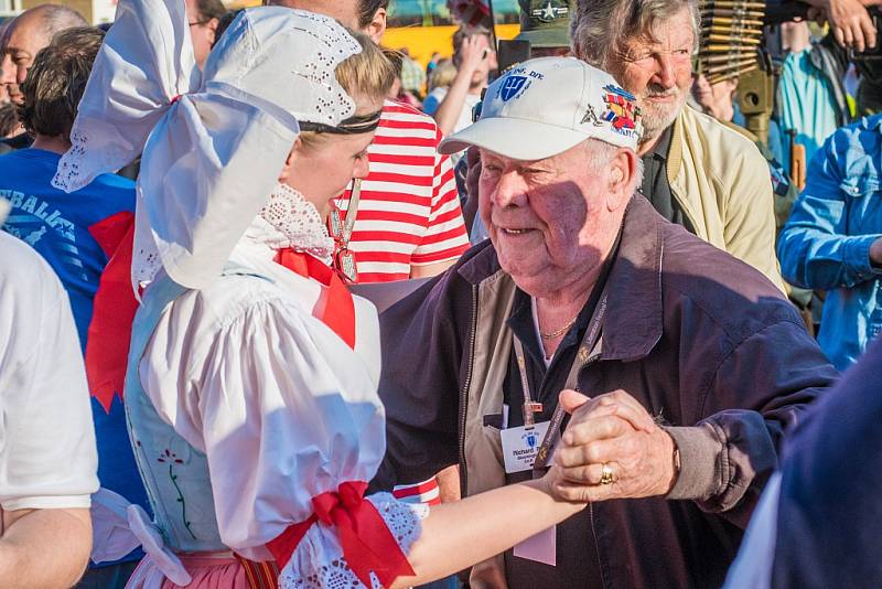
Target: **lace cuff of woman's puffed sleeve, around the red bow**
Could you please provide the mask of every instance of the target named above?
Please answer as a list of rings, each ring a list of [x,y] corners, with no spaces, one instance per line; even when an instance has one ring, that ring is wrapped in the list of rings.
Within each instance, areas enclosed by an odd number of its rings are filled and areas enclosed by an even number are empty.
[[[401,550],[407,555],[422,532],[422,520],[429,517],[429,506],[402,503],[389,493],[367,497],[376,507]],[[370,574],[372,589],[383,589],[379,579]],[[279,575],[280,589],[352,589],[364,587],[349,569],[340,543],[332,529],[313,526],[294,550],[291,560]]]

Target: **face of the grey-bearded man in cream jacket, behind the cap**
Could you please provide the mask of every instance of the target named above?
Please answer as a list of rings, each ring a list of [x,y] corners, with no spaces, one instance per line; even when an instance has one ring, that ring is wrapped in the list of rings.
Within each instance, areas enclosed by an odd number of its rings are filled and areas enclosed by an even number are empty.
[[[655,39],[630,39],[610,58],[609,68],[637,98],[644,140],[658,137],[677,118],[692,84],[695,33],[688,8],[659,22]]]

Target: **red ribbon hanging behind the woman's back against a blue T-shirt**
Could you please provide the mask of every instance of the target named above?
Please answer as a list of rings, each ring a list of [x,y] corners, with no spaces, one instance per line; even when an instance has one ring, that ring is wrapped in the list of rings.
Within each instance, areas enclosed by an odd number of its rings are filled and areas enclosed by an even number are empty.
[[[135,215],[117,213],[89,227],[108,258],[93,301],[86,342],[86,376],[92,396],[110,413],[114,396],[122,398],[131,324],[138,301],[131,288]]]

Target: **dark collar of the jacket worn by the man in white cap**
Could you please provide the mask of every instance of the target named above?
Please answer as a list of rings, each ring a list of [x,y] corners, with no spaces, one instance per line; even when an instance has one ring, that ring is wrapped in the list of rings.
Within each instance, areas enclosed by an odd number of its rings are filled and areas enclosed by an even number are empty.
[[[606,279],[607,308],[602,328],[602,360],[638,360],[662,338],[663,219],[646,199],[634,195],[625,211],[622,240]],[[502,272],[490,239],[459,268],[471,285]]]

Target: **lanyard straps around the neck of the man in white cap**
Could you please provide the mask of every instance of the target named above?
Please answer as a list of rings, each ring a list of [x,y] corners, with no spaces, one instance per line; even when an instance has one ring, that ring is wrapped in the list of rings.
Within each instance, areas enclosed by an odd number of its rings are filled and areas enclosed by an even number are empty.
[[[577,354],[576,360],[570,367],[570,373],[567,376],[567,384],[564,385],[566,388],[578,388],[579,373],[593,360],[592,357],[589,357],[589,354],[600,341],[600,331],[603,323],[603,318],[606,314],[607,299],[609,296],[606,292],[606,286],[604,285],[600,301],[598,302],[598,306],[594,308],[594,312],[591,315],[591,322],[589,323],[585,336],[582,339],[582,342],[579,345],[579,353]],[[520,385],[524,389],[524,425],[531,426],[535,422],[534,413],[536,410],[541,410],[541,404],[537,404],[533,400],[530,385],[527,381],[524,345],[520,343],[520,340],[518,340],[517,335],[515,335],[514,339],[514,347],[518,371],[520,372]],[[549,452],[560,439],[561,425],[563,424],[563,418],[566,416],[567,411],[563,409],[563,406],[558,404],[557,408],[555,409],[555,414],[551,416],[551,422],[548,426],[548,431],[546,431],[542,443],[539,446],[539,451],[536,454],[536,461],[533,464],[534,478],[541,478],[545,474],[545,469],[548,467]]]

